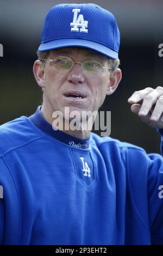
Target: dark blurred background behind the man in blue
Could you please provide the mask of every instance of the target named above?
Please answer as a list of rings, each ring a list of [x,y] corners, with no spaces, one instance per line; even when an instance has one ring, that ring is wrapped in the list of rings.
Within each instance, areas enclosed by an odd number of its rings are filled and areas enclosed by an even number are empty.
[[[163,57],[158,56],[158,46],[163,43],[163,1],[67,2],[96,3],[116,16],[121,32],[122,81],[117,91],[106,97],[100,110],[111,111],[111,137],[139,145],[147,153],[160,153],[159,133],[131,113],[127,99],[135,90],[163,86]],[[32,68],[44,18],[59,3],[65,1],[0,2],[0,44],[4,56],[0,57],[0,124],[21,115],[29,116],[41,105],[42,92]]]

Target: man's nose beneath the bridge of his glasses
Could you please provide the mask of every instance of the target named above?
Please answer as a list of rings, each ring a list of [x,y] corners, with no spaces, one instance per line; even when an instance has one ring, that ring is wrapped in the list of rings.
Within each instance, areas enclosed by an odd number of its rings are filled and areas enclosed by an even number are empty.
[[[73,68],[68,72],[67,80],[69,83],[80,84],[84,83],[85,76],[80,63],[75,63]]]

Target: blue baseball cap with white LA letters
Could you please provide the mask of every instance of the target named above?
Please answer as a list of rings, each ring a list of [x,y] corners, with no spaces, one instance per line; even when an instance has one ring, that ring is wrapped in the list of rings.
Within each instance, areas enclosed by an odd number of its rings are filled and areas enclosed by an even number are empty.
[[[58,4],[45,18],[41,40],[40,52],[76,46],[117,59],[120,32],[114,15],[96,4]]]

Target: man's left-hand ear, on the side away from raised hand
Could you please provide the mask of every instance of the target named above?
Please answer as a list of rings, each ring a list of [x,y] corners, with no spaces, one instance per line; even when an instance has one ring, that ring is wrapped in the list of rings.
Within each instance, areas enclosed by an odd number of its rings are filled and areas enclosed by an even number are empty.
[[[45,88],[45,68],[40,60],[36,60],[33,65],[35,80],[40,87]]]

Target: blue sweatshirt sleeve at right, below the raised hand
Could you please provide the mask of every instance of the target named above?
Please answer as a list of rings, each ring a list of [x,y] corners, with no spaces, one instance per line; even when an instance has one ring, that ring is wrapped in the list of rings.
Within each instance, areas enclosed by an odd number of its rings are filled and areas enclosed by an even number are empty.
[[[161,138],[161,150],[162,143]],[[163,157],[147,154],[133,145],[127,147],[126,157],[127,191],[133,214],[149,232],[152,245],[163,245]]]

